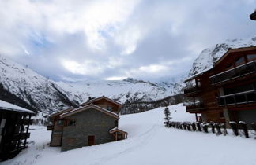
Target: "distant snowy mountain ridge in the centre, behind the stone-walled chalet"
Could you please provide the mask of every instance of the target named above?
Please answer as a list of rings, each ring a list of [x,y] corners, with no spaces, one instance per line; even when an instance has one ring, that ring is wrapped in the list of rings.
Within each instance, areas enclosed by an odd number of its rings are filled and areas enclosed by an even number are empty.
[[[141,101],[155,101],[179,94],[182,85],[178,83],[150,83],[137,79],[124,80],[87,80],[82,82],[63,83],[58,82],[62,89],[75,94],[81,101],[88,97],[100,97],[102,95],[111,97],[122,103],[129,98],[137,98]]]

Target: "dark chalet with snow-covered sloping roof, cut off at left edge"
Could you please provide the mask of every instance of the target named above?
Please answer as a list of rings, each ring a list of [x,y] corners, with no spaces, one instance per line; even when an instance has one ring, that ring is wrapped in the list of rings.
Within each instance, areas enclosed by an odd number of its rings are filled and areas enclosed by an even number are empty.
[[[0,100],[0,161],[26,148],[31,116],[35,112]]]

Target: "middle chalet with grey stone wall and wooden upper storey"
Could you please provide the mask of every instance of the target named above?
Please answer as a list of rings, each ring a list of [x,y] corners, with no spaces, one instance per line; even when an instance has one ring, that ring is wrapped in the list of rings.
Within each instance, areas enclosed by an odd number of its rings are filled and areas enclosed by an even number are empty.
[[[103,144],[127,138],[120,130],[119,112],[122,105],[107,97],[99,97],[51,114],[53,125],[50,146],[61,146],[62,151],[83,146]]]

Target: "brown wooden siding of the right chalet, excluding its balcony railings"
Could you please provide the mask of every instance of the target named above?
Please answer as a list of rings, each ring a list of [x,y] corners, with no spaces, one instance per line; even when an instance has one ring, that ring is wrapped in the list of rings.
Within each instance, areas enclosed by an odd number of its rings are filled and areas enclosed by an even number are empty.
[[[248,62],[250,62],[247,59],[247,55],[252,54],[256,54],[256,46],[248,48],[230,49],[227,53],[224,54],[223,57],[220,58],[219,61],[216,62],[213,69],[194,77],[194,79],[200,79],[201,93],[194,95],[192,94],[190,96],[194,98],[198,97],[204,103],[205,108],[203,111],[201,111],[201,113],[205,122],[225,122],[224,116],[222,115],[224,110],[227,110],[230,114],[230,119],[235,121],[239,120],[237,110],[243,111],[248,109],[254,109],[253,111],[256,111],[255,103],[227,105],[224,107],[220,107],[216,99],[216,97],[223,96],[224,91],[227,89],[232,89],[235,87],[240,88],[241,86],[249,86],[250,84],[255,83],[255,74],[249,74],[239,79],[232,79],[232,81],[229,81],[228,83],[220,83],[218,85],[212,85],[209,79],[209,77],[213,75],[225,72],[230,68],[235,68],[239,66],[235,64],[235,61],[237,61],[237,59],[239,59],[240,57],[243,57],[243,62],[240,64],[247,64]],[[232,67],[230,67],[231,65]],[[190,111],[190,113],[193,113],[193,111]],[[226,120],[230,121],[230,119]]]

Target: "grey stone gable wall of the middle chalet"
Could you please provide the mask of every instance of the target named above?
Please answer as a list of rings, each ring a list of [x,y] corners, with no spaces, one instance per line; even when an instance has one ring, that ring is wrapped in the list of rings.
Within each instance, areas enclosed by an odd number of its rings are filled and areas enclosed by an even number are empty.
[[[76,126],[67,126],[63,129],[62,151],[81,148],[88,145],[88,136],[95,136],[95,145],[114,141],[109,130],[115,127],[115,118],[90,108],[79,112],[69,119],[76,120]]]

